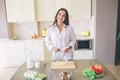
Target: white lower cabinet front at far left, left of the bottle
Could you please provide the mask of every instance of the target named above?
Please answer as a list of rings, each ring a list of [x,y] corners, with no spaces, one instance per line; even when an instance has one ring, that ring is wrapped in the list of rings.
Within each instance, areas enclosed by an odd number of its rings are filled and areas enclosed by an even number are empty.
[[[8,41],[7,42],[7,66],[21,66],[25,62],[24,42]]]

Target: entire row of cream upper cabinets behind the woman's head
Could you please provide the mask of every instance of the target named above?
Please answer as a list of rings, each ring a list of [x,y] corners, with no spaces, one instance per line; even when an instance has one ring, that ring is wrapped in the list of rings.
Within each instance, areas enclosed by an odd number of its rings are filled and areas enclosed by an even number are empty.
[[[53,21],[62,7],[70,20],[91,18],[91,0],[6,0],[7,21]]]

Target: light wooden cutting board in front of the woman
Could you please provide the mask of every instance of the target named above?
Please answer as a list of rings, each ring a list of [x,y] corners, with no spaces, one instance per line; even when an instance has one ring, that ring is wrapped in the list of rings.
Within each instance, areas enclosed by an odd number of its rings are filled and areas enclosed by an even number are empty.
[[[74,61],[57,61],[51,62],[51,69],[75,69]]]

